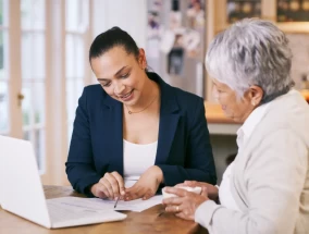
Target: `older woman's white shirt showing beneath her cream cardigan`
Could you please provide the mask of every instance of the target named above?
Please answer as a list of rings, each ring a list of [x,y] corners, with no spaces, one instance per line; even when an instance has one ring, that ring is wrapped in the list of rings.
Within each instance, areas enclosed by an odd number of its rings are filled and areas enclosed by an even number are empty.
[[[259,124],[259,122],[264,116],[269,103],[262,104],[255,109],[252,113],[247,118],[242,127],[237,131],[237,146],[238,152],[243,150],[243,146],[245,146],[245,141],[251,136],[255,131],[255,127]],[[223,178],[219,188],[219,198],[222,206],[233,209],[239,210],[237,204],[231,192],[231,177],[233,172],[234,162],[232,162],[223,174]]]

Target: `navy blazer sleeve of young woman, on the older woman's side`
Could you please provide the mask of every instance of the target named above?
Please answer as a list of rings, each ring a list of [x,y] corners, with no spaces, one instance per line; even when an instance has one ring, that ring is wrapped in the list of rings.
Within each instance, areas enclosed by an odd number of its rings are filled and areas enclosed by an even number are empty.
[[[189,123],[185,167],[159,164],[164,176],[164,184],[174,186],[186,180],[217,183],[215,167],[210,145],[209,132],[205,116],[205,106],[198,99],[191,123]]]

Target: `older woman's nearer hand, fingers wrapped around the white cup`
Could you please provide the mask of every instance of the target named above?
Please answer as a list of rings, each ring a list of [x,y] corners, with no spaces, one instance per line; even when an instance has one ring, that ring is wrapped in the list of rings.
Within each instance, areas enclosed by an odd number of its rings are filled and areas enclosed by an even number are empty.
[[[194,220],[195,211],[202,202],[209,200],[207,196],[207,188],[202,187],[201,194],[195,194],[176,187],[165,187],[164,190],[169,194],[174,194],[177,197],[163,199],[165,211],[175,213],[185,220]]]

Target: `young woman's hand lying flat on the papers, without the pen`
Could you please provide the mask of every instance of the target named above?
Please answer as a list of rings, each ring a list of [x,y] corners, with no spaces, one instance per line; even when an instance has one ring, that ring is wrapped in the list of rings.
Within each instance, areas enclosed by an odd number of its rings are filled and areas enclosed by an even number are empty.
[[[125,200],[134,200],[138,198],[149,199],[152,197],[160,183],[163,182],[163,172],[157,167],[150,167],[139,180],[129,188],[125,190]]]

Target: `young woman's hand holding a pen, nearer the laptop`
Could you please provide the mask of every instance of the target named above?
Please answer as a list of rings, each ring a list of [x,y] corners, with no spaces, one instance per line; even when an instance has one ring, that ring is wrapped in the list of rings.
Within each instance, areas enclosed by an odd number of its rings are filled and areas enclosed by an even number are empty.
[[[118,199],[125,195],[124,182],[118,172],[106,173],[103,177],[90,188],[96,197]]]

